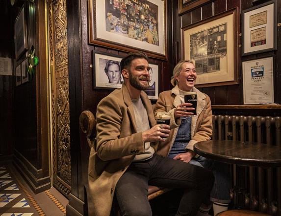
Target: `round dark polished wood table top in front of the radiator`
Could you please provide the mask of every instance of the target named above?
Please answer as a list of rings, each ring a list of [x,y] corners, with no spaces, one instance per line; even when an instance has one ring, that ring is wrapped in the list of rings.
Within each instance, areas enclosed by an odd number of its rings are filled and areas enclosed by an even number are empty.
[[[198,142],[194,151],[206,158],[254,167],[281,167],[281,147],[232,140]]]

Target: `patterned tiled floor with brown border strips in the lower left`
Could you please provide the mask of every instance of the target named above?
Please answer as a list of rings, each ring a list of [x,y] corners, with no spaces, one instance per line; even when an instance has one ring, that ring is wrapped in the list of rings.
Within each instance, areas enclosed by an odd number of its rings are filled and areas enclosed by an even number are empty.
[[[0,216],[64,216],[67,203],[55,188],[34,194],[12,165],[0,165]]]

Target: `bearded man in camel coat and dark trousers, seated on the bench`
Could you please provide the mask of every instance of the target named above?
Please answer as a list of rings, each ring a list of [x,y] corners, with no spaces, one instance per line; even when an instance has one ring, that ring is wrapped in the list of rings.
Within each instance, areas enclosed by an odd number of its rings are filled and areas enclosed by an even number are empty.
[[[155,125],[151,102],[142,91],[149,86],[150,69],[146,54],[128,54],[121,61],[122,88],[97,107],[97,139],[89,158],[96,216],[109,216],[114,195],[122,215],[151,216],[148,184],[184,188],[177,216],[194,216],[212,187],[213,176],[204,168],[155,154],[170,126]]]

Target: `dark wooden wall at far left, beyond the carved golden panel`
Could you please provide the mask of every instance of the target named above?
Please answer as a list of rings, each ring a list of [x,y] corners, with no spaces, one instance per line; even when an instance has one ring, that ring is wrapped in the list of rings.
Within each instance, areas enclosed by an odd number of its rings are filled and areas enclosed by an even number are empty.
[[[28,82],[16,86],[15,68],[28,56],[26,50],[15,59],[14,50],[14,22],[23,5],[27,49],[35,47],[39,65],[33,78],[29,76]],[[0,160],[6,163],[7,159],[13,159],[34,192],[50,187],[46,49],[42,45],[46,44],[44,6],[41,0],[17,0],[14,5],[10,0],[0,1],[0,57],[12,59],[13,71],[13,76],[0,75]],[[43,22],[39,19],[39,11]]]

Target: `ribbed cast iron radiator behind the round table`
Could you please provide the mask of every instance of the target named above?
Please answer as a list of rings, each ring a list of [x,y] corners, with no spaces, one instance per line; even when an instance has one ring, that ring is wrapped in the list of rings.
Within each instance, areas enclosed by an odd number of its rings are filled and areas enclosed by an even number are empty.
[[[213,115],[213,140],[239,140],[281,146],[281,117]],[[281,168],[245,167],[245,208],[281,216]],[[241,180],[241,179],[240,179]],[[236,185],[236,166],[232,166]]]

